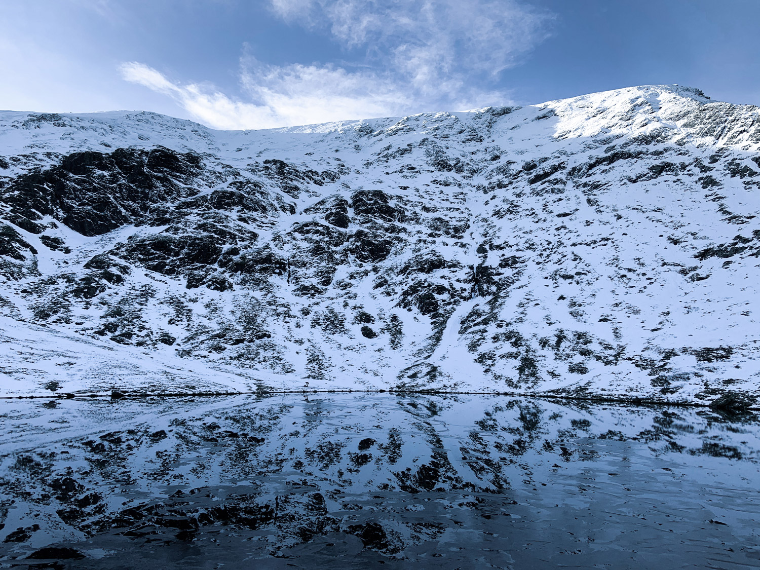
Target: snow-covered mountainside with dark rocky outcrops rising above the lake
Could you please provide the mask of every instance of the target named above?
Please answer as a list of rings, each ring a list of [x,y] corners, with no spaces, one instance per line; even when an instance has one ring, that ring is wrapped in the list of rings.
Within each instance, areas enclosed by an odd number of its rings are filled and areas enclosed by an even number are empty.
[[[0,112],[2,393],[760,395],[760,109]]]

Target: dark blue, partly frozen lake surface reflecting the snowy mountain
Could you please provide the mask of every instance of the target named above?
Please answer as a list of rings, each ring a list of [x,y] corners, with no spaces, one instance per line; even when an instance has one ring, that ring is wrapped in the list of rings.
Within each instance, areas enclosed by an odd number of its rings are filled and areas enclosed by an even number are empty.
[[[760,566],[751,413],[474,395],[11,400],[0,432],[4,568]]]

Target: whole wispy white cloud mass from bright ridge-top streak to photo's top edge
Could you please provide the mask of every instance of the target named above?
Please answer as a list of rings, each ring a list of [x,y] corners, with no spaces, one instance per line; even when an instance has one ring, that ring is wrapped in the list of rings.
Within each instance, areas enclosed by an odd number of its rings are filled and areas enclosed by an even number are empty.
[[[545,39],[552,19],[513,0],[271,0],[271,11],[307,30],[328,30],[341,46],[363,52],[360,65],[268,65],[246,52],[239,97],[169,81],[138,62],[123,64],[122,77],[172,97],[215,128],[503,104],[507,94],[491,88],[499,72]]]

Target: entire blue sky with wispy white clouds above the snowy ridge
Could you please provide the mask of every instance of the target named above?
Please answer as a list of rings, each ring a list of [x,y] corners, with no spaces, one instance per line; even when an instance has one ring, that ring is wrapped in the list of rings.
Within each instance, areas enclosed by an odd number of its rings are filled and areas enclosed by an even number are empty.
[[[683,84],[760,104],[760,0],[9,0],[0,109],[214,128]]]

